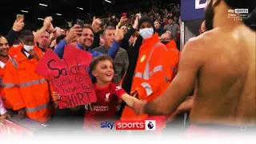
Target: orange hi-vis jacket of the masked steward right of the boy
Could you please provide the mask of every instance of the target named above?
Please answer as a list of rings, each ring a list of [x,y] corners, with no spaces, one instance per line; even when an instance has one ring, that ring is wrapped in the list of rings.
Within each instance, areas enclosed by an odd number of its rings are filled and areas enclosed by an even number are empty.
[[[168,54],[166,46],[159,42],[158,34],[154,34],[142,44],[131,86],[131,91],[138,92],[138,99],[150,102],[164,92],[162,89],[170,82],[172,76]],[[136,116],[134,110],[126,106],[121,119],[142,120],[145,118],[149,118],[148,115]]]

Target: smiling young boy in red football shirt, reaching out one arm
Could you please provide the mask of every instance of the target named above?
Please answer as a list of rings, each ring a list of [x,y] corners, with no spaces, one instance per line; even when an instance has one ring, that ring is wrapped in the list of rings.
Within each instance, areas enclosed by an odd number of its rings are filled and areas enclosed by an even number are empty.
[[[94,58],[90,62],[90,70],[97,79],[97,83],[94,84],[97,102],[87,106],[83,127],[84,130],[93,132],[103,130],[101,129],[102,122],[115,120],[115,110],[120,98],[130,107],[138,99],[126,94],[125,90],[111,82],[114,77],[114,69],[113,60],[110,57],[100,55]],[[54,94],[55,100],[59,98]]]

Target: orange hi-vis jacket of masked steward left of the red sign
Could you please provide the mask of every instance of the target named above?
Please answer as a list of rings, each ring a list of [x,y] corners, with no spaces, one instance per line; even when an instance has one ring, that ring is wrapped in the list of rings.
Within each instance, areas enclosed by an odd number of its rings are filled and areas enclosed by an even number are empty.
[[[46,78],[35,74],[38,61],[22,53],[23,46],[15,48],[14,57],[6,64],[3,78],[6,98],[14,110],[25,108],[26,116],[38,122],[47,122],[51,116],[50,88]],[[42,50],[34,46],[42,58]]]

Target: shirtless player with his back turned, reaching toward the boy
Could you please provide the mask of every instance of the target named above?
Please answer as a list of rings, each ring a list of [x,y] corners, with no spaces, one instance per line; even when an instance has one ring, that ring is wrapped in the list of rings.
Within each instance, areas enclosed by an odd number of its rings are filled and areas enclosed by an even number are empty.
[[[256,34],[227,17],[227,1],[207,0],[208,31],[186,43],[174,81],[153,102],[136,102],[137,114],[173,114],[195,86],[190,122],[255,126]]]

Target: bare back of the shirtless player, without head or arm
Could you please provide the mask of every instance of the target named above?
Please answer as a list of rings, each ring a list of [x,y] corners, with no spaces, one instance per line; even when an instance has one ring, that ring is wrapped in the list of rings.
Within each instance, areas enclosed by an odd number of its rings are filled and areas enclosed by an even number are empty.
[[[198,72],[191,122],[256,125],[255,35],[240,25],[198,37],[204,64]]]

